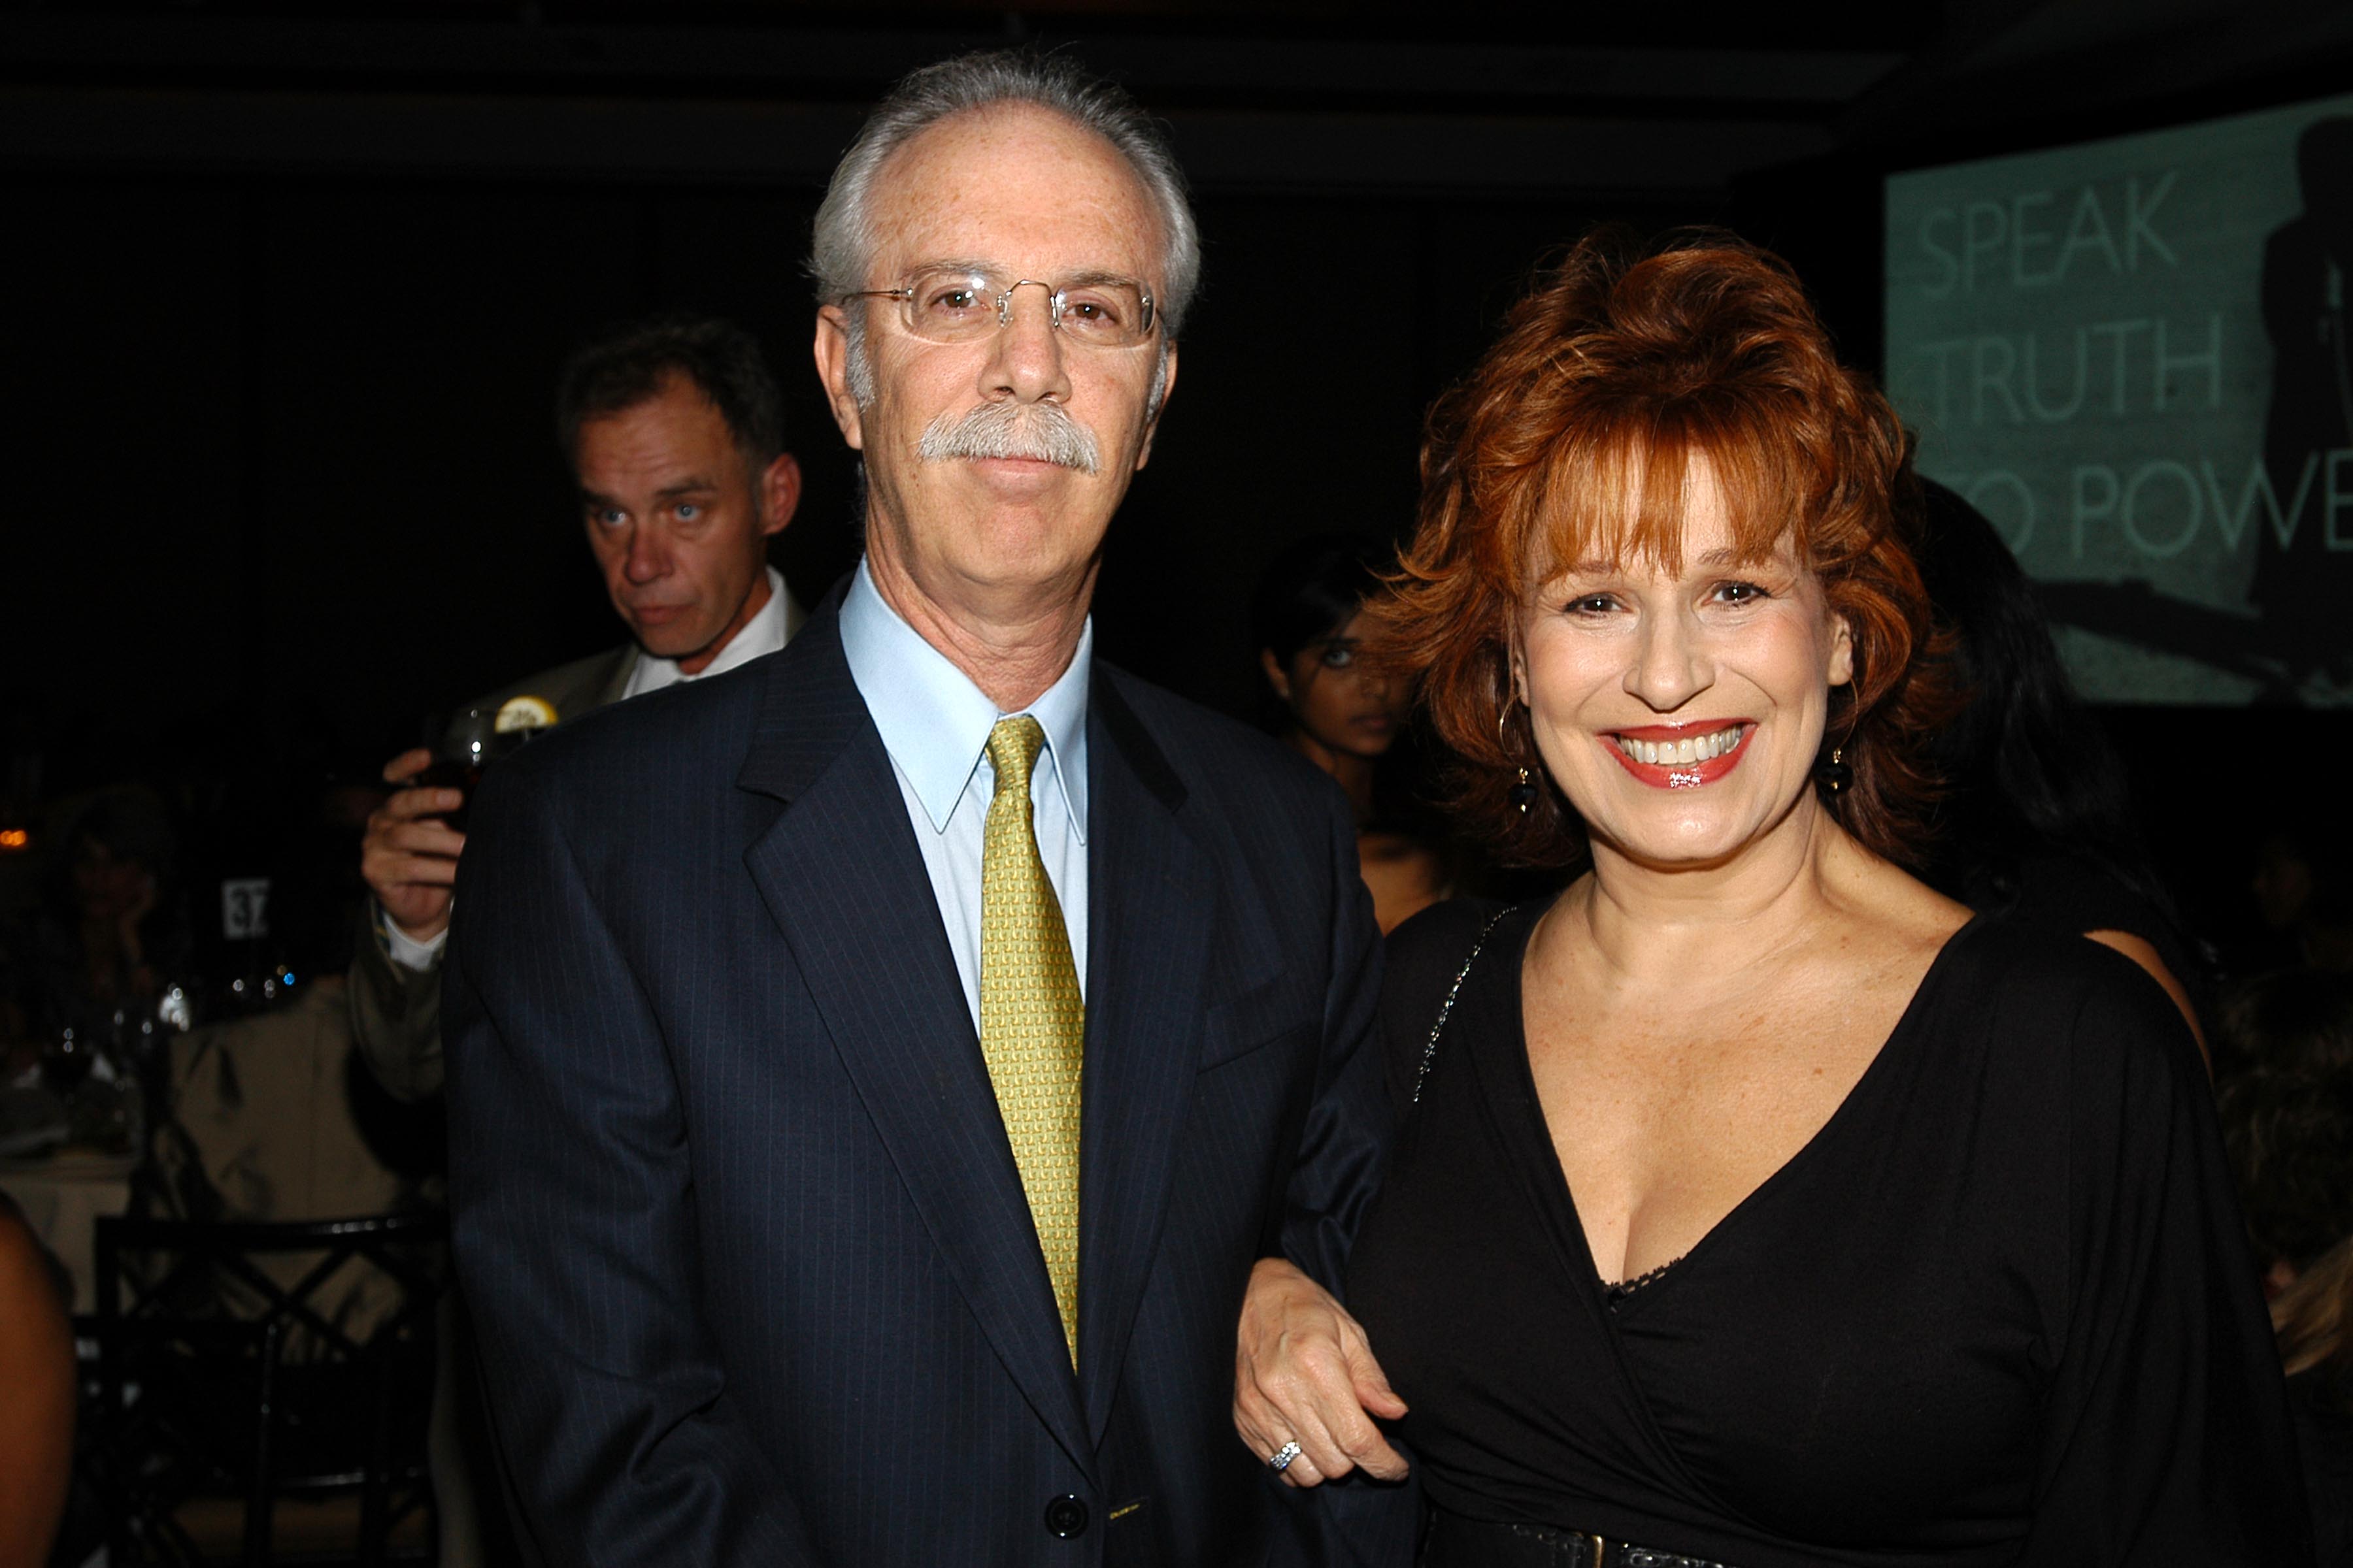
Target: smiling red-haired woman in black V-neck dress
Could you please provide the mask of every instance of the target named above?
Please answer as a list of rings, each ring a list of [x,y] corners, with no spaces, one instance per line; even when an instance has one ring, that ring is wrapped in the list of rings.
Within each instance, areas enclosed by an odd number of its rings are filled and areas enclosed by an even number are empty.
[[[1391,940],[1348,1305],[1428,1568],[2308,1561],[2181,1016],[1906,870],[1951,712],[1913,491],[1720,233],[1588,237],[1431,416],[1379,639],[1461,820],[1581,875]],[[1346,1389],[1235,1418],[1315,1483]]]

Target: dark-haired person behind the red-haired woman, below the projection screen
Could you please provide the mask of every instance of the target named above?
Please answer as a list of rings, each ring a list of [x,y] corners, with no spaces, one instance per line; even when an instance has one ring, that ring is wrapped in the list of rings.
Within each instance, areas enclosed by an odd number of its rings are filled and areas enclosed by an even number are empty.
[[[2068,684],[2026,571],[1984,512],[1944,484],[1922,491],[1920,578],[1967,698],[1927,743],[1944,795],[1922,879],[1972,910],[2007,907],[2122,952],[2205,1048],[2207,964],[2141,846],[2125,766]]]

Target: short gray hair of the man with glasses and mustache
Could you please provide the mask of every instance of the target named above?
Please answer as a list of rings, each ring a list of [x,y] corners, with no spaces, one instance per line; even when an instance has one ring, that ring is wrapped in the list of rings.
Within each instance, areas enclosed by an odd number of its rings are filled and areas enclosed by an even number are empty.
[[[842,153],[816,209],[816,233],[809,247],[809,275],[816,280],[816,303],[831,306],[845,294],[868,287],[873,261],[873,183],[892,153],[932,129],[976,108],[995,103],[1033,103],[1080,125],[1127,160],[1160,216],[1165,252],[1160,287],[1153,303],[1162,320],[1162,369],[1167,341],[1184,327],[1186,306],[1200,284],[1200,230],[1186,200],[1184,172],[1160,127],[1136,108],[1113,82],[1089,78],[1075,63],[1026,49],[991,49],[908,73],[875,103],[859,127],[856,141]],[[866,367],[864,313],[849,313],[849,393],[861,404],[873,400],[873,374]],[[1160,374],[1153,376],[1158,409]]]

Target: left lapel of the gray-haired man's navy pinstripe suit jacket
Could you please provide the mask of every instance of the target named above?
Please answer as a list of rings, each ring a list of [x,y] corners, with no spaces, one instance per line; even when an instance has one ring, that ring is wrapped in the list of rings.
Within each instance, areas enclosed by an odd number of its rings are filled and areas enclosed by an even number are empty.
[[[736,783],[788,802],[746,867],[1007,1373],[1092,1472],[1071,1356],[939,903],[831,607],[769,661]]]

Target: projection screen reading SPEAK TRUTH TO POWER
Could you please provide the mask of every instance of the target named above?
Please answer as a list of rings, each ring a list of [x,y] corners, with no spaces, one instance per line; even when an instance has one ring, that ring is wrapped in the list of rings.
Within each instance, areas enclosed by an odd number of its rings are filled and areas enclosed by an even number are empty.
[[[1887,181],[1887,390],[2106,703],[2353,705],[2353,96]]]

